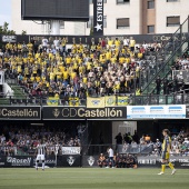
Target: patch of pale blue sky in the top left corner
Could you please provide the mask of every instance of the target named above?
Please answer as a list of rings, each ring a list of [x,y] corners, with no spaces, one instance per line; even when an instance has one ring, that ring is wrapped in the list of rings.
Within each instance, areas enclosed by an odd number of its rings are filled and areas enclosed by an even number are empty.
[[[11,29],[11,0],[0,0],[0,26],[3,24],[3,22],[9,23],[9,29]]]

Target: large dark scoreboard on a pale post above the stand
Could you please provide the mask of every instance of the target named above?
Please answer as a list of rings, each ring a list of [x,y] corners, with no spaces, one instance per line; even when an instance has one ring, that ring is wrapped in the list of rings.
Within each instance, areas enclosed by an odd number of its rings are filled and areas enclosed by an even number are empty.
[[[22,0],[22,20],[88,21],[89,0]]]

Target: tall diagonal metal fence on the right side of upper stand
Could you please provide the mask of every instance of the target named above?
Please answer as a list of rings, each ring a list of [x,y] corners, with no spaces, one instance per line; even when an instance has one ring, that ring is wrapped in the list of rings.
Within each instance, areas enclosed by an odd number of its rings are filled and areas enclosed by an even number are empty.
[[[149,57],[150,63],[147,70],[141,71],[141,90],[143,93],[151,93],[155,89],[155,81],[158,76],[167,77],[170,67],[177,56],[181,56],[188,48],[189,42],[189,18],[178,28],[172,37],[162,46],[160,51]]]

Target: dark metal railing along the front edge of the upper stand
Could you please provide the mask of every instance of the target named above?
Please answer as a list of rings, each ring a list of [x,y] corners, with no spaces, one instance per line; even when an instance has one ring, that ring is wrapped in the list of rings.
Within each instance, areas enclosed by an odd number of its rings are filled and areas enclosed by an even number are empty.
[[[0,96],[0,105],[1,106],[48,106],[48,99],[42,97],[32,97],[32,98],[14,98],[14,97],[6,97],[2,98]],[[72,101],[72,100],[71,100]],[[79,102],[79,103],[78,103]],[[130,96],[128,97],[128,102],[125,106],[146,106],[146,105],[189,105],[189,93],[187,90],[175,92],[171,94],[142,94],[142,96]],[[79,99],[77,103],[71,102],[70,100],[59,99],[58,105],[56,106],[64,106],[64,107],[86,107],[87,100]],[[115,107],[118,106],[118,99],[116,100]]]

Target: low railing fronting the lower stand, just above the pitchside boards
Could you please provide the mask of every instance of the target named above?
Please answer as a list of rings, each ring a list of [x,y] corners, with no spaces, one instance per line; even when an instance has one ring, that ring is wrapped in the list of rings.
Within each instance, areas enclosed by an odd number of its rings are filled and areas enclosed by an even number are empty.
[[[46,156],[64,156],[64,155],[81,155],[81,156],[99,156],[103,153],[108,156],[108,149],[111,147],[115,153],[119,155],[138,155],[138,156],[160,156],[161,149],[156,143],[137,145],[87,145],[82,147],[64,147],[59,146],[47,146]],[[66,151],[64,151],[66,148]],[[186,146],[189,149],[189,145]],[[86,150],[83,150],[86,149]],[[173,156],[185,155],[185,150],[171,151]],[[0,157],[1,156],[37,156],[37,148],[31,145],[22,146],[7,146],[0,145]],[[186,155],[185,155],[186,156]]]

